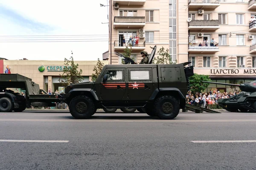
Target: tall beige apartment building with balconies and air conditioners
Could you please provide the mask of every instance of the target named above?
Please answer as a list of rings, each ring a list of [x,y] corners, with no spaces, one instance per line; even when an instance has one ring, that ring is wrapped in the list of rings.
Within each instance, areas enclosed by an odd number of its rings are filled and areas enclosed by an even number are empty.
[[[256,79],[256,3],[244,0],[110,0],[109,64],[120,64],[130,36],[140,40],[132,56],[157,45],[172,60],[191,61],[194,72],[212,81],[242,83]],[[125,37],[125,44],[123,43]],[[213,43],[211,43],[211,40]],[[157,55],[157,54],[156,54]],[[229,92],[226,85],[209,85]]]

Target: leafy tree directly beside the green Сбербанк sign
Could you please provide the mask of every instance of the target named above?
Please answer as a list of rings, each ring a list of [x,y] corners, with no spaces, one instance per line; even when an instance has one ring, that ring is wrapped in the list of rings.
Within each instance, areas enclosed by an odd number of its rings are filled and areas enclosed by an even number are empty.
[[[78,64],[75,64],[73,57],[64,59],[64,68],[61,77],[64,78],[65,81],[61,80],[62,85],[67,86],[71,83],[75,84],[83,81],[84,78],[81,76],[83,71],[82,69],[78,71],[78,66]]]

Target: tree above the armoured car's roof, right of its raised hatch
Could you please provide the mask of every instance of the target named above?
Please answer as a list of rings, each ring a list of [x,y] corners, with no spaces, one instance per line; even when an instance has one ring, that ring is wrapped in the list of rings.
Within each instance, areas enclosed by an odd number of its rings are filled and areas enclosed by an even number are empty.
[[[169,49],[160,48],[157,53],[159,54],[157,57],[154,57],[154,64],[176,64],[177,60],[175,62],[172,62],[172,57],[169,54]]]

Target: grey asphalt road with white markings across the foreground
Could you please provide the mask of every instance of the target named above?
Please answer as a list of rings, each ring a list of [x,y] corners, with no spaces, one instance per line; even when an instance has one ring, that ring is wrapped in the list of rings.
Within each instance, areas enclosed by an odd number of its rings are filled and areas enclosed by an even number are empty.
[[[256,113],[0,113],[0,170],[255,170],[255,126]]]

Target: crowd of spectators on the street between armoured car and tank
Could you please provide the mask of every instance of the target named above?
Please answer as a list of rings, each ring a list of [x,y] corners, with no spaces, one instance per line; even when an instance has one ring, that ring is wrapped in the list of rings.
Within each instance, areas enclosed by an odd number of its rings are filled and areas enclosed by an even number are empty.
[[[188,91],[186,95],[186,103],[190,105],[199,106],[202,108],[208,109],[218,109],[218,99],[227,99],[236,94],[239,94],[239,91],[234,92],[224,92],[220,91],[210,91],[209,93],[196,93],[192,94],[191,91]]]

